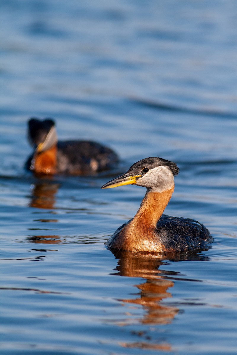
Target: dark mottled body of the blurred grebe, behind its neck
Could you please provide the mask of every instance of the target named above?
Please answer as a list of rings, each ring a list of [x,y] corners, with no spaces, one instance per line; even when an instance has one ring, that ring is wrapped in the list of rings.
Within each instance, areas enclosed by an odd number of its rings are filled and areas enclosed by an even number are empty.
[[[58,172],[88,174],[111,168],[118,162],[112,149],[90,141],[58,142]]]

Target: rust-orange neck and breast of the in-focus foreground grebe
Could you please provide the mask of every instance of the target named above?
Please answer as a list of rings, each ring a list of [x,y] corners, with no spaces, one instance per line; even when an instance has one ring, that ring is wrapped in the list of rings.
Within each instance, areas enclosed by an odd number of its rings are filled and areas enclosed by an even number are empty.
[[[156,224],[164,212],[174,191],[147,191],[141,206],[134,218],[107,245],[114,249],[130,251],[161,251],[162,246],[157,240]]]

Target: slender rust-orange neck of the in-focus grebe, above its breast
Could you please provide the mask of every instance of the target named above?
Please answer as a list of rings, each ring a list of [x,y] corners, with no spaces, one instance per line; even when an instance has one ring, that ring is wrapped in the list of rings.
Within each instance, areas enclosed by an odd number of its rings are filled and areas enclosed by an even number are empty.
[[[163,192],[151,192],[147,190],[141,206],[130,224],[137,230],[154,229],[164,212],[172,193],[174,192],[174,185],[169,190]]]

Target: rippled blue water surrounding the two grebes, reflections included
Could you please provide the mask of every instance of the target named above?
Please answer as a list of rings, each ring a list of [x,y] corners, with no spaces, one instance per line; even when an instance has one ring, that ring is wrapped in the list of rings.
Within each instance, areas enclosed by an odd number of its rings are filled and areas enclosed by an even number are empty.
[[[235,1],[1,2],[2,354],[236,354]],[[36,179],[29,116],[121,157]],[[176,162],[166,208],[212,249],[175,260],[104,242],[145,190],[100,187],[148,156]]]

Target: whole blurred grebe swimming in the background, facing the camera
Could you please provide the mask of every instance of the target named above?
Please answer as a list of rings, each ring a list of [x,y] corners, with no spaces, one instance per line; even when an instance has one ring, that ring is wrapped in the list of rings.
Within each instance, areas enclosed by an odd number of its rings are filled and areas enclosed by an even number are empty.
[[[28,140],[34,147],[26,169],[35,174],[84,175],[106,170],[118,162],[112,149],[91,141],[58,141],[52,119],[28,121]]]

